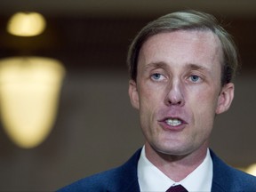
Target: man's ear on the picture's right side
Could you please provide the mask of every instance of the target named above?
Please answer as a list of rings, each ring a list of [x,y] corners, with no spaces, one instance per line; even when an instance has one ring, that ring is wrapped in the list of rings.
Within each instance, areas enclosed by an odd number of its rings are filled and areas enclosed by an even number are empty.
[[[225,84],[220,92],[218,98],[218,106],[216,108],[216,114],[221,114],[228,110],[232,100],[234,99],[235,85],[232,83]]]

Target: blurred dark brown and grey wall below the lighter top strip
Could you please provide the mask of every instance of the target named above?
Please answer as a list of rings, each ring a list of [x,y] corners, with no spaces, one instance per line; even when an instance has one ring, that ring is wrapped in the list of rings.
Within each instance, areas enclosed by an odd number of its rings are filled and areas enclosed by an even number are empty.
[[[0,191],[52,191],[95,172],[123,164],[143,145],[138,112],[127,94],[128,45],[148,17],[47,16],[42,36],[8,35],[0,16],[0,57],[36,54],[67,68],[59,115],[51,135],[32,149],[14,146],[0,125]],[[256,163],[256,18],[226,17],[243,68],[234,105],[217,116],[212,148],[229,164]],[[1,104],[1,103],[0,103]]]

